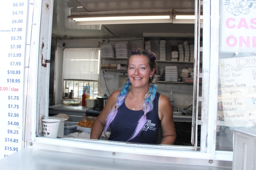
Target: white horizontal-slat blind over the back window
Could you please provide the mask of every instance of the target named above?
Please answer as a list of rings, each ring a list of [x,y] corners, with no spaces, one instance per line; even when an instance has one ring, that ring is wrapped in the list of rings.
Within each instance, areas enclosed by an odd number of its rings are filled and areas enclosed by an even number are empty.
[[[98,51],[98,48],[65,49],[63,79],[98,81]]]

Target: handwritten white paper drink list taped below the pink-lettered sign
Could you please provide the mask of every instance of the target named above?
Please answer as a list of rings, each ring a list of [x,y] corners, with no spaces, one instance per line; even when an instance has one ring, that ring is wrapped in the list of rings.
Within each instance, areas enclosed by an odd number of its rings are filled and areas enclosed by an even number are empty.
[[[256,56],[219,60],[225,126],[256,125]]]

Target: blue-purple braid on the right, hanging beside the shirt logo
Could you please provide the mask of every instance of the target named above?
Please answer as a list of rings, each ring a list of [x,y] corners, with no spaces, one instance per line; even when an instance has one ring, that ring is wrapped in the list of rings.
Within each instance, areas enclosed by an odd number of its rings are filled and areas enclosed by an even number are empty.
[[[141,132],[141,129],[143,128],[143,126],[147,121],[146,114],[153,110],[153,107],[154,107],[153,101],[155,99],[155,94],[157,93],[156,82],[157,82],[157,79],[154,74],[152,79],[150,79],[149,81],[149,92],[145,95],[145,100],[143,101],[142,108],[143,108],[144,114],[140,118],[139,123],[137,124],[137,127],[129,140],[135,138]]]

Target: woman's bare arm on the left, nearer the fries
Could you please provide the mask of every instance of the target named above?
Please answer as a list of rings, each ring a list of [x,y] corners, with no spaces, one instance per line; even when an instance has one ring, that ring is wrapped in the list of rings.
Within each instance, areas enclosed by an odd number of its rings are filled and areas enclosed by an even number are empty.
[[[105,127],[107,114],[115,108],[115,101],[117,100],[117,96],[119,93],[120,90],[116,90],[107,99],[105,107],[102,109],[101,113],[93,123],[90,139],[99,139],[101,137]]]

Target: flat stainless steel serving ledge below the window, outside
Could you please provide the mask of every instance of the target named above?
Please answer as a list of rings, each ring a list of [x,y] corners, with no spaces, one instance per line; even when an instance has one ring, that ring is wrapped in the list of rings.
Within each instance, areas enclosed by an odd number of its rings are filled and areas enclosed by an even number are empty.
[[[112,158],[111,158],[112,157]],[[208,161],[208,160],[207,160]],[[232,163],[226,167],[200,166],[181,163],[165,163],[154,161],[138,161],[118,159],[114,156],[101,157],[91,155],[72,154],[67,152],[49,151],[35,148],[23,148],[0,160],[1,169],[54,169],[54,170],[78,170],[78,169],[178,169],[178,170],[218,170],[231,169]]]

